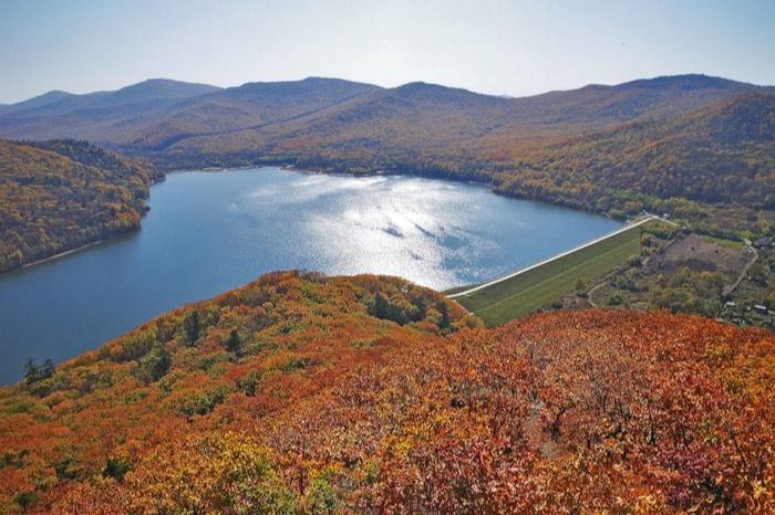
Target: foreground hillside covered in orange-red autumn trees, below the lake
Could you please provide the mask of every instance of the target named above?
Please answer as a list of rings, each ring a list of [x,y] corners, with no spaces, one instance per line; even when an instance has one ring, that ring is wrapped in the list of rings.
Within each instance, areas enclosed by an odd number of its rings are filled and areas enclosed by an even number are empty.
[[[0,390],[41,513],[765,513],[775,339],[559,312],[478,328],[399,278],[265,275]]]

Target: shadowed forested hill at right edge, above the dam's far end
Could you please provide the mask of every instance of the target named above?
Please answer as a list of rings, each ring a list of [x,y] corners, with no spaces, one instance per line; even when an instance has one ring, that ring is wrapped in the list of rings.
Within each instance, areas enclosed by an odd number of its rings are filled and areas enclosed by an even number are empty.
[[[585,209],[648,209],[711,232],[766,232],[775,221],[775,96],[746,94],[549,144],[496,182],[507,193]]]

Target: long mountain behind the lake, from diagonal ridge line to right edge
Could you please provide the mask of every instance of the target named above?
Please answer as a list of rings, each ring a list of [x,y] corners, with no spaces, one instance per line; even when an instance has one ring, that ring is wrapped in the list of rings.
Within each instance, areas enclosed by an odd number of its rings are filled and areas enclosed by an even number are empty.
[[[301,156],[404,161],[413,156],[493,160],[520,157],[525,143],[665,118],[724,98],[765,91],[704,75],[591,85],[526,98],[503,98],[412,83],[369,94],[293,119],[202,137],[169,138],[173,156]],[[416,160],[416,159],[415,159]],[[382,165],[380,165],[382,166]]]

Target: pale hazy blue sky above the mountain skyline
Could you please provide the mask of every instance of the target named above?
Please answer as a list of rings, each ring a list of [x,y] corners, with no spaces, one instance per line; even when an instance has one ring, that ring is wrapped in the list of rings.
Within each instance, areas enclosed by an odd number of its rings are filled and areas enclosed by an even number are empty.
[[[151,77],[521,96],[692,72],[775,84],[775,0],[0,0],[0,103]]]

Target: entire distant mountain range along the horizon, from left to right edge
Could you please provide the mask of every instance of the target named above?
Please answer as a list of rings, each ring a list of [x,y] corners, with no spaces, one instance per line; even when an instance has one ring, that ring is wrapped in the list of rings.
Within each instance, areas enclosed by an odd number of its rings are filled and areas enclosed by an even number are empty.
[[[763,90],[705,75],[590,85],[525,98],[425,83],[384,90],[320,77],[220,91],[154,80],[112,93],[11,106],[11,112],[0,113],[0,136],[79,137],[133,151],[192,153],[220,160],[285,155],[289,148],[304,154],[380,146],[406,153],[448,153],[451,146],[466,153],[503,151],[506,144],[666,117]]]

